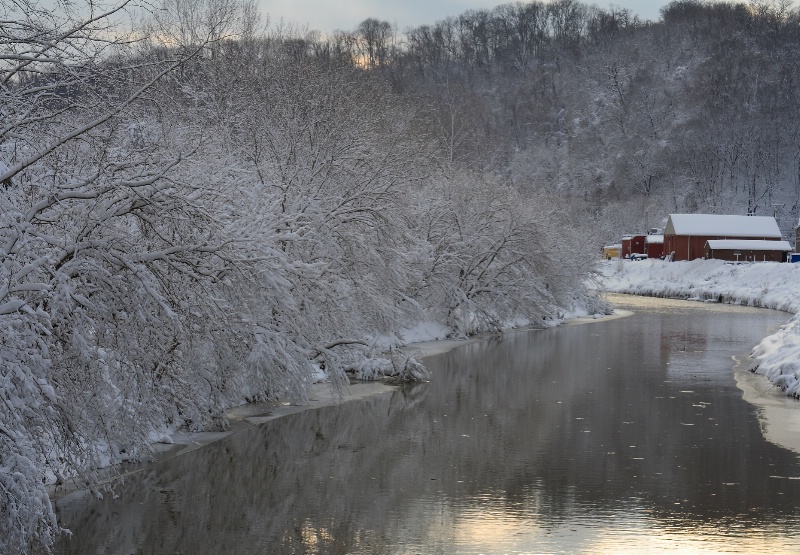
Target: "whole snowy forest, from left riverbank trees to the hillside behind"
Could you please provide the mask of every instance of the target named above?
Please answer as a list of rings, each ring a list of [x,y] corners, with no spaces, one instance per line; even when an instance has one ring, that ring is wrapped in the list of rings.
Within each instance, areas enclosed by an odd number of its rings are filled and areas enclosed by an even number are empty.
[[[113,494],[162,434],[320,373],[427,377],[417,325],[606,311],[599,248],[669,213],[788,236],[798,59],[780,1],[323,34],[253,0],[0,0],[0,552],[48,551],[53,488]]]

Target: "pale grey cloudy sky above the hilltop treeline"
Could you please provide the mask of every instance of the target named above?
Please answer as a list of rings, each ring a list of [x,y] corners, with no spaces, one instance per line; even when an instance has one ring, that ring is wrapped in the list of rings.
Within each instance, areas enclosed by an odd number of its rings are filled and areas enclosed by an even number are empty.
[[[261,13],[275,24],[308,26],[309,30],[330,33],[352,31],[359,23],[373,17],[397,24],[400,31],[407,27],[430,25],[467,10],[492,9],[512,0],[258,0]],[[658,20],[659,10],[669,0],[616,0],[604,3],[584,1],[600,8],[628,8],[640,19]]]

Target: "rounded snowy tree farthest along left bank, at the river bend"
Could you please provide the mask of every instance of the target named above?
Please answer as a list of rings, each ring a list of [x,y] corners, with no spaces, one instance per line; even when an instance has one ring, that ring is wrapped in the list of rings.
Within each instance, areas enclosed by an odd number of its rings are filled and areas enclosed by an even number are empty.
[[[459,334],[542,326],[589,277],[580,222],[559,221],[541,196],[523,199],[499,178],[463,173],[422,188],[413,228],[422,279],[413,296],[443,311]]]

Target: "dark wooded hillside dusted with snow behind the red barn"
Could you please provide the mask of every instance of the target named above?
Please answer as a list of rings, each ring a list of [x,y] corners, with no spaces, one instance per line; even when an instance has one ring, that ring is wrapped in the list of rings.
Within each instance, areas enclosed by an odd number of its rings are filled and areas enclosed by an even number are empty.
[[[669,213],[776,215],[785,234],[798,220],[800,16],[785,3],[679,0],[657,22],[507,4],[383,41],[377,24],[354,44],[420,99],[443,163],[558,195],[598,248]]]

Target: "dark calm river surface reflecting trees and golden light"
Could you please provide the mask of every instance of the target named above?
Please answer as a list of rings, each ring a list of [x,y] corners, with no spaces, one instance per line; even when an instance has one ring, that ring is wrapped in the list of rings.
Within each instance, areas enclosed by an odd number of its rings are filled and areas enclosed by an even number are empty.
[[[466,345],[428,361],[429,384],[64,500],[60,552],[794,551],[800,464],[764,440],[731,361],[786,316],[615,302],[636,314]]]

